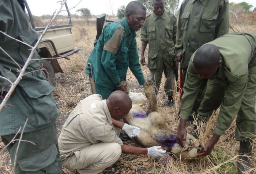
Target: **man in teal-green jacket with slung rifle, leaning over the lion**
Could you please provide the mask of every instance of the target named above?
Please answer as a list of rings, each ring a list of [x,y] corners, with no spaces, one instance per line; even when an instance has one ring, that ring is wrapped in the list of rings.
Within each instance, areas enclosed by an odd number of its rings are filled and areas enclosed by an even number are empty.
[[[86,66],[86,74],[89,74],[88,63],[91,63],[96,93],[103,99],[114,90],[126,90],[121,81],[125,80],[128,67],[139,85],[144,84],[135,31],[142,27],[145,18],[146,8],[138,1],[131,1],[123,19],[103,28]]]

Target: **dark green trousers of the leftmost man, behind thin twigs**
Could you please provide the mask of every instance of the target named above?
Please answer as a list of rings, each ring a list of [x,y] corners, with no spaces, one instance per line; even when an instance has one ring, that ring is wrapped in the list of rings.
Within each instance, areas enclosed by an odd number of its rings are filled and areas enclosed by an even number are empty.
[[[15,135],[1,136],[5,146]],[[19,139],[16,136],[15,139]],[[23,133],[17,155],[15,174],[59,174],[61,173],[61,161],[57,142],[56,125],[52,124],[37,131]],[[14,164],[15,152],[18,141],[11,143],[7,149],[10,152],[12,164]]]

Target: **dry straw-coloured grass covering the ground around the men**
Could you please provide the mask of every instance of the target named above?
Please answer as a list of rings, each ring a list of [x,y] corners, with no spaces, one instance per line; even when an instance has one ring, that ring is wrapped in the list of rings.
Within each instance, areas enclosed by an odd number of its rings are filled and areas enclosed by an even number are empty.
[[[74,40],[75,45],[80,47],[78,54],[71,56],[71,61],[66,59],[60,59],[60,65],[63,68],[64,74],[56,74],[56,89],[54,91],[54,97],[56,103],[61,110],[61,115],[57,119],[57,129],[60,133],[61,127],[67,119],[69,113],[74,109],[75,105],[83,98],[89,96],[90,84],[89,79],[85,76],[84,66],[93,49],[94,37],[96,35],[95,19],[90,21],[73,19],[74,28]],[[255,26],[248,26],[249,31],[255,31]],[[241,30],[243,27],[240,28]],[[244,31],[244,30],[242,30]],[[140,53],[140,32],[137,33],[138,50]],[[146,51],[147,54],[147,51]],[[140,54],[139,54],[140,55]],[[149,71],[147,67],[142,67],[144,76],[148,76]],[[132,75],[131,71],[128,71],[127,81],[132,92],[142,92],[142,87],[138,85],[138,82]],[[163,82],[165,77],[163,77]],[[176,133],[177,131],[177,103],[178,94],[176,95],[176,108],[170,109],[162,107],[162,104],[166,100],[166,96],[163,92],[163,83],[160,87],[160,93],[158,96],[159,112],[165,118],[166,124],[170,131]],[[207,124],[198,125],[199,140],[202,144],[205,144],[211,137],[214,126],[216,124],[218,111],[211,117]],[[237,173],[236,163],[239,144],[234,140],[235,123],[232,123],[231,127],[226,133],[221,136],[219,142],[215,145],[211,155],[206,157],[200,157],[198,159],[191,159],[187,161],[180,161],[178,157],[166,154],[161,159],[151,158],[147,155],[129,155],[122,154],[120,159],[112,166],[108,167],[103,173],[106,174],[134,174],[134,173],[174,173],[174,174],[233,174]],[[188,132],[192,131],[192,126],[187,128]],[[128,140],[125,144],[140,146],[135,140]],[[3,148],[3,143],[0,142],[0,148]],[[254,154],[256,153],[253,148]],[[256,154],[254,155],[256,156]],[[8,152],[6,150],[0,151],[0,173],[10,174],[11,163]],[[254,166],[256,166],[256,158],[254,160]],[[256,173],[256,169],[254,169]],[[63,173],[74,174],[73,170],[63,168]]]

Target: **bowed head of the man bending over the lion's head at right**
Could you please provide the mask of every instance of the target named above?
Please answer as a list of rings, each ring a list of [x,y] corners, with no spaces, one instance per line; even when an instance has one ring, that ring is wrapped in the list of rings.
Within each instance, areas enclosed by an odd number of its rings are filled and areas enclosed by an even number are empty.
[[[211,78],[221,65],[221,53],[217,46],[205,44],[196,50],[193,67],[200,78]]]

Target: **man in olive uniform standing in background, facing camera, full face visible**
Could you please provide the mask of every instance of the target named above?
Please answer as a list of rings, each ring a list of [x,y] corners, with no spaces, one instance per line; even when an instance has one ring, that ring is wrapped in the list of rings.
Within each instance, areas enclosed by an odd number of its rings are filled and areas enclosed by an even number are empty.
[[[155,82],[157,89],[164,72],[165,94],[168,96],[167,103],[170,107],[174,106],[174,51],[173,44],[176,43],[176,17],[165,10],[165,0],[153,0],[154,11],[147,16],[140,34],[142,41],[142,51],[140,63],[146,65],[144,52],[148,49],[148,65],[150,78]]]

